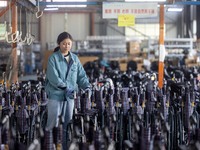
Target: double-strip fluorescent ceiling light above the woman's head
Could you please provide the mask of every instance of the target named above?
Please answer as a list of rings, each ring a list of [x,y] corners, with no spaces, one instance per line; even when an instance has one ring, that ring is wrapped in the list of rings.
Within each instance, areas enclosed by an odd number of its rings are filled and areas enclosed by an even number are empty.
[[[87,2],[87,0],[47,0],[47,2],[70,2],[70,3],[76,3],[76,2]],[[47,5],[46,7],[87,7],[87,5]]]

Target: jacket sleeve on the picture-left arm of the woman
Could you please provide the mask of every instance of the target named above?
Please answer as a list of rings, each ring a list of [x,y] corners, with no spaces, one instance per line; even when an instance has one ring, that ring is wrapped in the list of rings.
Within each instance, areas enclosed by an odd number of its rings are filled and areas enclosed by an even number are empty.
[[[54,57],[49,57],[47,64],[47,73],[46,73],[47,79],[53,87],[64,89],[66,88],[67,85],[59,77],[55,61],[56,60]]]

